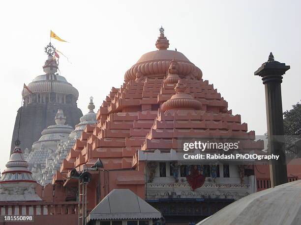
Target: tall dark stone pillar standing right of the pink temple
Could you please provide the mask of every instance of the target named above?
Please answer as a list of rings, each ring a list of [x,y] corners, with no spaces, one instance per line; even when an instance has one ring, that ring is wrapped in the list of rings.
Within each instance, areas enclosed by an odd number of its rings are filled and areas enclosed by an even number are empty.
[[[269,154],[279,155],[278,160],[271,160],[271,187],[287,183],[287,170],[284,152],[283,111],[281,99],[282,75],[290,66],[274,60],[270,53],[269,60],[254,73],[262,77],[266,92],[266,111],[269,139]]]

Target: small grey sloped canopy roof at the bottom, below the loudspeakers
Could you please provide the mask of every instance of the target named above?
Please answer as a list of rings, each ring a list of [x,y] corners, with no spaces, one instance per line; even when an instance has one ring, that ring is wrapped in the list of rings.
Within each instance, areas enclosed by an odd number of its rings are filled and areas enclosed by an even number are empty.
[[[90,212],[90,220],[159,219],[161,213],[129,189],[114,189]]]

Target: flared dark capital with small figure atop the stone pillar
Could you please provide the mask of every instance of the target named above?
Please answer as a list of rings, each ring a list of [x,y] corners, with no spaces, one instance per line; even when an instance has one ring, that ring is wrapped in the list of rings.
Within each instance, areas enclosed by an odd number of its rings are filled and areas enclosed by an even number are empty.
[[[285,65],[285,63],[280,63],[274,60],[274,56],[272,53],[269,55],[269,60],[261,65],[257,71],[254,72],[254,75],[258,75],[262,77],[263,84],[276,81],[282,82],[283,75],[286,71],[288,71],[291,67]]]

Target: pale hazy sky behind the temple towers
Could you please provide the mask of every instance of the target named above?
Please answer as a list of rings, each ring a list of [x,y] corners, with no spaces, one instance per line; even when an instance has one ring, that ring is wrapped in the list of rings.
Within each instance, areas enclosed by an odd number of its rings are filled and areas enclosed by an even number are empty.
[[[43,74],[50,29],[70,42],[52,41],[71,61],[61,57],[60,72],[79,91],[84,114],[90,96],[99,108],[126,70],[156,50],[162,25],[170,49],[198,66],[233,114],[262,135],[265,93],[254,71],[270,51],[291,66],[282,83],[283,110],[301,99],[300,11],[299,0],[2,1],[0,170],[9,159],[23,83]]]

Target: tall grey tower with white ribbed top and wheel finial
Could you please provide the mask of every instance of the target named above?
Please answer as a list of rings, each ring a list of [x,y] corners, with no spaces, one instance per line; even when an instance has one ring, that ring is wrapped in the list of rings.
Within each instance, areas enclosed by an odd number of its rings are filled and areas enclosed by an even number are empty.
[[[36,76],[22,90],[23,106],[18,109],[14,125],[11,153],[15,148],[15,141],[22,140],[20,148],[31,149],[44,128],[53,125],[53,118],[59,109],[67,117],[66,123],[72,127],[79,123],[83,115],[77,107],[79,93],[65,77],[59,75],[58,62],[52,54],[55,48],[51,43],[45,48],[47,60],[43,65],[45,74]],[[20,116],[22,120],[20,120]]]

